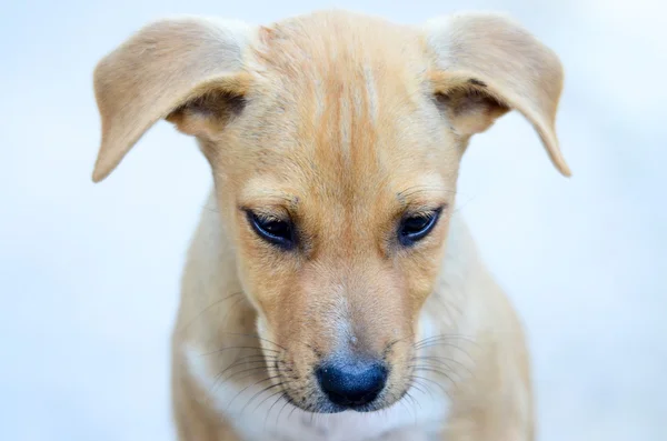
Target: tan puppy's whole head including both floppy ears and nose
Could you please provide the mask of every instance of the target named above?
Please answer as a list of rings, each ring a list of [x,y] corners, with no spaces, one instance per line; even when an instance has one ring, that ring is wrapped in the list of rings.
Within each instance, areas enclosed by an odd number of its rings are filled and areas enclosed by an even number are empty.
[[[161,118],[197,137],[271,377],[302,409],[372,411],[410,387],[469,138],[516,109],[568,174],[561,82],[498,16],[160,21],[96,70],[93,179]]]

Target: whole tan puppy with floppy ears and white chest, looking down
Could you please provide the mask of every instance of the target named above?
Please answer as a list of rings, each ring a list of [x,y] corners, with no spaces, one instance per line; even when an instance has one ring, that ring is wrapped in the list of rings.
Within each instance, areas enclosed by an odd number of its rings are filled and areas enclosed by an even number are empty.
[[[558,170],[557,57],[507,18],[155,22],[94,72],[106,178],[158,120],[215,189],[173,332],[180,440],[534,438],[521,327],[455,216],[516,109]]]

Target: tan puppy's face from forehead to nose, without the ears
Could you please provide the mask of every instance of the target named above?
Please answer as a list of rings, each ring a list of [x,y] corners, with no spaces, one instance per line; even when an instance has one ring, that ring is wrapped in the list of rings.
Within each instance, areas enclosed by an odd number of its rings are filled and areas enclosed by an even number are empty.
[[[364,48],[317,26],[265,31],[269,86],[211,162],[260,334],[286,348],[271,375],[305,409],[374,410],[407,388],[462,147],[425,89],[418,39],[397,27]]]

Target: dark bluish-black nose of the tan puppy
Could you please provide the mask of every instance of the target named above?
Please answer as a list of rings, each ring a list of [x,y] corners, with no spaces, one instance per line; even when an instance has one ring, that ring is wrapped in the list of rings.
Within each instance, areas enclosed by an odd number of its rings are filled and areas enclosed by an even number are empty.
[[[387,383],[387,368],[377,361],[325,363],[317,369],[316,375],[329,400],[346,408],[372,402]]]

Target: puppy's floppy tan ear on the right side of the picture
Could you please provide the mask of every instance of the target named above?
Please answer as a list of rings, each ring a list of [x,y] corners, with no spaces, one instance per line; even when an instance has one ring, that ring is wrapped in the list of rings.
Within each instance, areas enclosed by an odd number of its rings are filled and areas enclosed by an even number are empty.
[[[435,58],[434,92],[452,128],[469,137],[515,109],[530,121],[554,166],[570,176],[555,127],[564,77],[558,57],[501,14],[458,13],[424,29]]]

